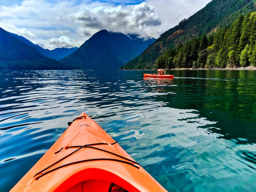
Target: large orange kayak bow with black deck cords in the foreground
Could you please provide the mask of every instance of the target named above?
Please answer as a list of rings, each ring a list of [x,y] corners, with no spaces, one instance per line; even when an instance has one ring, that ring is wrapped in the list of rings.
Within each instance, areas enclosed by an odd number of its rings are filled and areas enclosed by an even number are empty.
[[[23,191],[166,192],[84,113],[11,190]]]

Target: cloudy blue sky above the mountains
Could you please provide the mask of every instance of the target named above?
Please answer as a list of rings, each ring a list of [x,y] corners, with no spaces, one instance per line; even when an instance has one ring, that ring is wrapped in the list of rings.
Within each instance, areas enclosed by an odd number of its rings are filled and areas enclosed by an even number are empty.
[[[211,0],[1,0],[0,27],[48,49],[80,46],[101,29],[159,37]]]

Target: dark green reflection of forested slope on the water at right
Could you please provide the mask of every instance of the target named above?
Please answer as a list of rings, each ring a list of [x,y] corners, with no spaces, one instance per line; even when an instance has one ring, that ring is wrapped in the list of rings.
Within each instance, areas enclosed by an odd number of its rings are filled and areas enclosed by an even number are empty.
[[[177,109],[195,109],[216,122],[210,132],[237,144],[255,142],[255,71],[172,71],[175,78],[144,77],[145,89],[158,92],[156,100]],[[153,93],[152,93],[153,94]],[[242,139],[237,139],[242,138]]]

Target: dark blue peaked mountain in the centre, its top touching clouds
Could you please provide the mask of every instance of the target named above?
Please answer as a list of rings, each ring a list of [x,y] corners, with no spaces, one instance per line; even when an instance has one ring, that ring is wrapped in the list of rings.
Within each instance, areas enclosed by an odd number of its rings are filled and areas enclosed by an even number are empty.
[[[154,38],[144,40],[137,34],[101,30],[60,61],[79,69],[118,69],[154,42]]]

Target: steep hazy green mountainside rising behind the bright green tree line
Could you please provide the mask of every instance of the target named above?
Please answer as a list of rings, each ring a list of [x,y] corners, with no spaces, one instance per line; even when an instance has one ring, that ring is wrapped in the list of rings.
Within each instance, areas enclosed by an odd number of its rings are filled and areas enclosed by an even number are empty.
[[[166,50],[179,46],[191,38],[212,34],[218,28],[231,25],[241,14],[256,10],[256,0],[212,0],[188,19],[164,32],[155,43],[148,46],[138,57],[129,61],[124,69],[154,68],[156,59]],[[179,49],[179,48],[178,48]]]

